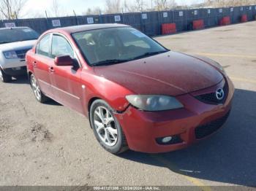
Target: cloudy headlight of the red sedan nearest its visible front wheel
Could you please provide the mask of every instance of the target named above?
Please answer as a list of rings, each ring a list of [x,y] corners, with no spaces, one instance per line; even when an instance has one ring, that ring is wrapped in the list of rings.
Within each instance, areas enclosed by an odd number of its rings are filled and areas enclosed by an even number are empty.
[[[148,112],[184,107],[176,98],[167,95],[127,95],[126,98],[132,106]]]

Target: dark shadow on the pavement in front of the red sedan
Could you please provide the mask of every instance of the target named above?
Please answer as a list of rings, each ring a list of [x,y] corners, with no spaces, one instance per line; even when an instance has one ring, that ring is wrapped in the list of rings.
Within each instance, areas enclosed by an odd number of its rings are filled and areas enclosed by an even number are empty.
[[[256,92],[236,90],[225,127],[205,141],[176,152],[149,155],[129,151],[120,157],[197,179],[255,187]],[[158,157],[173,165],[162,163]]]

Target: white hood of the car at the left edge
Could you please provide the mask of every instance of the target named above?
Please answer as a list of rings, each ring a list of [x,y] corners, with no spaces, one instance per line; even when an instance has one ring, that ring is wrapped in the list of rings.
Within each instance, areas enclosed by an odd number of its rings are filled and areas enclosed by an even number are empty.
[[[34,46],[37,40],[28,40],[20,42],[11,42],[6,44],[0,44],[0,51],[11,51],[11,50],[23,50],[30,49]]]

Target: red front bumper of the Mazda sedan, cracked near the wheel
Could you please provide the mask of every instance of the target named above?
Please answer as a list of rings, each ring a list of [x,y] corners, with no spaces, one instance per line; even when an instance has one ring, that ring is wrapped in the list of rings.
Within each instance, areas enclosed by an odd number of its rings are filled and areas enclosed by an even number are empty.
[[[205,138],[206,136],[198,136],[198,130],[208,124],[216,124],[219,120],[222,120],[222,122],[217,123],[217,125],[222,126],[230,112],[234,87],[228,78],[227,84],[229,91],[225,104],[204,104],[198,101],[194,97],[195,95],[186,94],[177,97],[184,104],[183,109],[143,112],[129,106],[126,112],[116,114],[126,135],[129,149],[148,153],[170,152],[188,147],[190,144]],[[219,85],[201,90],[200,93],[215,91],[219,88]],[[216,128],[216,130],[219,128]],[[210,133],[212,134],[216,130],[214,129]],[[206,135],[209,134],[206,133]],[[158,138],[166,136],[179,136],[182,141],[178,144],[168,145],[157,143]]]

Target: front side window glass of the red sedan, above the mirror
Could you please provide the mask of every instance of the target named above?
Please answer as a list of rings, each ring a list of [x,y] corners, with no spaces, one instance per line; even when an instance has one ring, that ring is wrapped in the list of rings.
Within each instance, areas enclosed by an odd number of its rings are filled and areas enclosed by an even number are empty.
[[[70,55],[71,58],[74,58],[74,51],[64,37],[59,35],[53,35],[53,44],[52,44],[52,53],[51,57],[55,58],[58,55]]]

